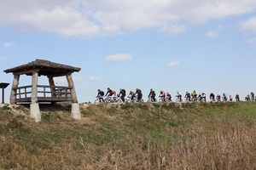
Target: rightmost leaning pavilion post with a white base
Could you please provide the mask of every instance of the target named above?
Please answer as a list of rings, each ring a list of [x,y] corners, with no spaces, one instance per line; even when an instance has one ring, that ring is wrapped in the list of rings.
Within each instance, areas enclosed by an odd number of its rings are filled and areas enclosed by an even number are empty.
[[[80,113],[80,109],[79,109],[79,102],[77,99],[77,94],[74,88],[74,84],[73,84],[73,79],[71,76],[71,73],[68,73],[66,75],[67,77],[67,83],[68,83],[68,87],[70,87],[70,93],[71,93],[71,98],[72,98],[72,108],[71,108],[71,116],[74,119],[81,119],[81,113]]]

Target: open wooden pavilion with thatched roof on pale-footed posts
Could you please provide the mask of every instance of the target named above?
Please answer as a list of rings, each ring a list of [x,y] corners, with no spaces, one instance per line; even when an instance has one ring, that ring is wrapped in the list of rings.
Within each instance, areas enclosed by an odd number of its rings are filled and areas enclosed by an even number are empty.
[[[73,111],[79,112],[78,99],[75,92],[72,73],[79,72],[79,67],[62,65],[44,59],[36,59],[26,65],[16,66],[4,72],[13,73],[14,80],[10,94],[10,104],[30,103],[31,116],[36,122],[41,120],[38,103],[40,102],[70,102]],[[20,75],[32,76],[32,85],[19,87]],[[38,85],[38,77],[46,76],[49,85]],[[67,77],[67,87],[55,86],[54,77]],[[80,113],[75,113],[74,118],[80,118]]]

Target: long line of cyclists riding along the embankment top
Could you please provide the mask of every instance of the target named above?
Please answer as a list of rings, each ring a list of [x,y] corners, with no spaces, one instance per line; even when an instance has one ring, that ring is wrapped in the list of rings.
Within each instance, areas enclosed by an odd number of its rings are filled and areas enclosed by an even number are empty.
[[[107,88],[107,93],[105,94],[101,89],[98,89],[98,94],[96,96],[95,103],[101,103],[101,102],[143,102],[143,93],[142,90],[137,88],[135,91],[130,91],[127,95],[128,99],[125,99],[126,91],[124,88],[119,89],[119,93],[117,94],[113,89]],[[156,93],[154,89],[150,89],[148,94],[148,102],[172,102],[172,95],[168,92],[164,92],[163,90],[160,90],[159,97],[160,99],[157,100]],[[183,102],[182,94],[177,91],[177,95],[175,96],[176,102]],[[215,94],[211,93],[209,95],[210,101],[233,101],[233,97],[231,95],[227,95],[225,93],[217,94],[215,97]],[[235,97],[236,101],[240,101],[239,94],[236,94]],[[246,101],[254,101],[256,100],[254,97],[253,92],[248,94],[245,98]],[[205,93],[198,94],[196,90],[194,90],[192,93],[186,92],[184,94],[184,102],[207,102],[207,95]]]

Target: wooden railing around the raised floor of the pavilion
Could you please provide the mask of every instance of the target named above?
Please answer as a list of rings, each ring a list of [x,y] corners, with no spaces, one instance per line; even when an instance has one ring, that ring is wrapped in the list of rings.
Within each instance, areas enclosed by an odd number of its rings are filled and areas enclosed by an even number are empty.
[[[32,100],[32,85],[15,88],[16,102]],[[64,86],[38,85],[38,102],[71,101],[71,88]]]

